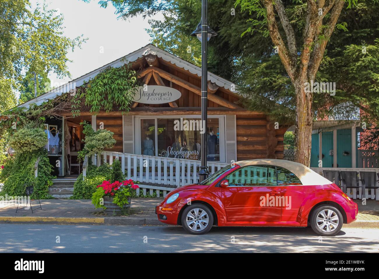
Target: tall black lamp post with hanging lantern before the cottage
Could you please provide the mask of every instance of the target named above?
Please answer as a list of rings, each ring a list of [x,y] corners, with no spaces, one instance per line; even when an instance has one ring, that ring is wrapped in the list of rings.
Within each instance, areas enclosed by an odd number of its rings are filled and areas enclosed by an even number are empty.
[[[201,21],[197,25],[196,30],[191,33],[191,36],[197,36],[201,42],[201,122],[204,124],[203,131],[201,134],[201,164],[200,164],[200,181],[207,178],[209,175],[207,167],[207,106],[208,106],[208,54],[207,54],[207,43],[209,39],[216,36],[217,33],[209,27],[207,23],[207,0],[201,1]],[[203,39],[206,35],[207,39]]]

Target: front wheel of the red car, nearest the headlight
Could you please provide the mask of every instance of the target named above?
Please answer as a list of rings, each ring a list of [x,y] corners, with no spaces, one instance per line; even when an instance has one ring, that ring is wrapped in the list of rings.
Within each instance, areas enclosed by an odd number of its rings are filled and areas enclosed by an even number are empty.
[[[207,233],[213,225],[212,210],[201,203],[189,205],[183,211],[182,225],[186,232],[193,235]]]

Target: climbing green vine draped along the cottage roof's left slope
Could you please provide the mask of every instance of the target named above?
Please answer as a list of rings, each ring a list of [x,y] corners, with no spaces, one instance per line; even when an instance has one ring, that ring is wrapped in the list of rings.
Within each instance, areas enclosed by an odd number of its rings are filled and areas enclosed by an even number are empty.
[[[62,94],[37,106],[31,104],[28,108],[14,107],[0,115],[0,134],[13,134],[25,122],[33,121],[36,126],[45,123],[48,117],[60,118],[61,112],[71,112],[73,116],[80,115],[84,107],[89,112],[97,114],[100,110],[110,112],[118,107],[128,112],[135,88],[142,82],[137,79],[137,73],[130,65],[119,68],[108,67],[97,74],[85,85],[77,88],[76,94]]]

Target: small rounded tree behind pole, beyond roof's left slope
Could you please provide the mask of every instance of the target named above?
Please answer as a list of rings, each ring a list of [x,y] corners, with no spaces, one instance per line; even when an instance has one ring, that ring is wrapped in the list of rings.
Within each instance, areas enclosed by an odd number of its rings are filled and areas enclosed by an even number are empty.
[[[50,79],[47,73],[36,74],[37,96],[50,90]],[[34,98],[34,73],[28,72],[23,78],[20,88],[19,102],[23,103]]]

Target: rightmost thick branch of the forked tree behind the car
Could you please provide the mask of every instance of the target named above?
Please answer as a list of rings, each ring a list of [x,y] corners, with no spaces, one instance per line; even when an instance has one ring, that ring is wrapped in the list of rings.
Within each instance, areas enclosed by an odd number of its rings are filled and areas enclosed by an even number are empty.
[[[323,38],[317,38],[315,46],[313,47],[312,56],[309,61],[309,72],[308,78],[314,79],[320,66],[321,60],[323,59],[326,44],[332,35],[335,25],[337,23],[338,17],[341,14],[344,0],[336,0],[335,5],[332,7],[330,12],[330,18],[327,22],[327,27],[322,32]]]

